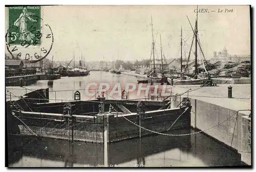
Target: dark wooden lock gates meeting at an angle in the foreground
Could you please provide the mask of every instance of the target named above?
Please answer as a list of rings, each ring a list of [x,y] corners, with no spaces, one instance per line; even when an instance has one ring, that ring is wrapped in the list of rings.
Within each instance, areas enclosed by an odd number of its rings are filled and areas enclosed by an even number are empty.
[[[45,97],[35,90],[8,101],[7,115],[17,119],[18,133],[22,135],[97,143],[104,142],[105,132],[106,142],[115,142],[190,127],[187,98],[170,108],[168,97],[162,101],[127,97],[109,100],[102,95],[95,100],[80,100],[79,92],[75,94],[76,100],[52,103],[49,93],[44,93]]]

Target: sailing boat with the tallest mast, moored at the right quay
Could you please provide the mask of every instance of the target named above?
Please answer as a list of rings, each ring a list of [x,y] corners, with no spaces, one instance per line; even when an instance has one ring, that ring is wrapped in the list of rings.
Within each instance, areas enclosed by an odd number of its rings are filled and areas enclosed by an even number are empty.
[[[189,21],[189,20],[188,20]],[[190,22],[189,22],[190,24]],[[191,24],[190,24],[191,26]],[[191,29],[193,30],[192,26],[191,26]],[[181,28],[181,78],[180,79],[174,79],[174,78],[167,78],[167,81],[173,85],[173,84],[176,84],[176,85],[193,85],[193,84],[206,84],[210,81],[210,77],[206,78],[198,78],[198,63],[197,63],[197,57],[198,57],[198,51],[197,51],[197,46],[199,44],[199,41],[198,41],[198,13],[197,13],[197,18],[196,18],[196,24],[195,24],[195,31],[193,30],[194,32],[194,36],[193,36],[193,41],[194,41],[194,37],[195,37],[195,75],[194,75],[194,78],[190,79],[187,77],[185,77],[184,75],[186,75],[185,73],[182,73],[182,28]],[[193,41],[192,41],[192,45],[193,45]],[[191,45],[191,48],[192,48],[192,45]],[[200,47],[200,45],[199,45]],[[191,48],[190,48],[190,51],[191,51]],[[201,47],[200,47],[201,49]],[[190,55],[190,51],[189,51],[189,55]],[[201,49],[202,51],[202,49]],[[189,58],[189,56],[188,56]],[[203,66],[204,66],[204,61],[203,62]],[[188,61],[187,61],[188,63]],[[187,65],[186,65],[187,67]],[[185,69],[186,69],[185,67]],[[204,67],[205,69],[205,67]],[[205,69],[206,71],[206,69]],[[185,71],[184,71],[185,72]],[[207,72],[207,71],[206,71]]]

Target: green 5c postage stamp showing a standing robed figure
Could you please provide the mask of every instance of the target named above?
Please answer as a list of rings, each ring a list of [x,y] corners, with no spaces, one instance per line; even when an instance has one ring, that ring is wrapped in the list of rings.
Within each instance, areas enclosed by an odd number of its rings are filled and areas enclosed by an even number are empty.
[[[40,45],[41,43],[41,7],[8,7],[10,45]]]

